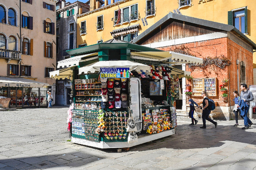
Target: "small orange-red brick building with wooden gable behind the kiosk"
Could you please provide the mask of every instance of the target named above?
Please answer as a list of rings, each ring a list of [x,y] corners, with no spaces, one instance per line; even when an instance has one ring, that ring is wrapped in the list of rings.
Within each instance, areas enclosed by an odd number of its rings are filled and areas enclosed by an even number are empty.
[[[191,71],[195,80],[202,79],[204,84],[202,89],[198,87],[198,89],[193,90],[192,98],[196,102],[202,102],[201,92],[212,85],[212,83],[208,85],[206,82],[209,78],[214,79],[215,91],[212,92],[212,96],[210,95],[210,99],[213,99],[217,104],[217,108],[214,110],[214,113],[216,113],[214,118],[229,120],[232,113],[231,109],[233,109],[231,106],[234,106],[233,91],[237,90],[239,92],[241,83],[253,84],[253,50],[256,49],[256,44],[234,26],[169,13],[136,37],[133,43],[164,51],[174,51],[175,49],[181,49],[183,46],[190,54],[199,58],[209,57],[210,60],[214,60],[216,57],[224,57],[231,61],[230,66],[223,68],[214,64],[209,64],[203,69],[199,67],[192,69],[184,65],[182,67]],[[219,65],[223,66],[222,63]],[[229,79],[226,86],[227,100],[221,98],[219,88],[224,78]],[[182,110],[186,109],[185,84],[186,79],[183,78],[182,101],[177,102],[177,107]],[[191,84],[192,87],[196,87],[194,81]],[[197,90],[201,91],[200,94]]]

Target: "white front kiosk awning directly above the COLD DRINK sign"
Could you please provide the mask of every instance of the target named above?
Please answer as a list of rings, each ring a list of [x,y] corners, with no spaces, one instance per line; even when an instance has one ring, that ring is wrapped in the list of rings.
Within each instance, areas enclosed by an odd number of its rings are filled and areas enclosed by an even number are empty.
[[[79,68],[79,75],[100,72],[100,68],[129,68],[130,71],[149,71],[150,66],[129,60],[119,61],[98,61],[85,67]]]

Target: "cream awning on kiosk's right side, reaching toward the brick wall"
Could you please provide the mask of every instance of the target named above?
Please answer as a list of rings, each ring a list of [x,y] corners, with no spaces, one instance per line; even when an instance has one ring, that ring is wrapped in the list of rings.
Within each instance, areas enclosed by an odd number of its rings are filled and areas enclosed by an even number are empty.
[[[162,61],[165,63],[203,63],[203,59],[173,51],[131,52],[132,59]],[[169,60],[169,62],[166,62]]]

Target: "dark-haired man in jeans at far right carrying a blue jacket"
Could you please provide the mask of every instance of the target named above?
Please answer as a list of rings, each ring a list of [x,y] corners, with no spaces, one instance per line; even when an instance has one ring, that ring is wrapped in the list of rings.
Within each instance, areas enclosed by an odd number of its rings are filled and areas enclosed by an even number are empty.
[[[242,127],[242,129],[248,129],[249,127],[252,126],[253,123],[251,122],[249,117],[247,117],[247,113],[250,108],[250,101],[253,101],[254,98],[253,98],[252,92],[247,90],[246,84],[241,84],[240,89],[241,89],[240,100],[243,100],[244,102],[239,102],[237,108],[242,107],[244,109],[244,114],[243,116],[241,115],[244,118],[244,127]],[[239,104],[241,106],[239,106]]]

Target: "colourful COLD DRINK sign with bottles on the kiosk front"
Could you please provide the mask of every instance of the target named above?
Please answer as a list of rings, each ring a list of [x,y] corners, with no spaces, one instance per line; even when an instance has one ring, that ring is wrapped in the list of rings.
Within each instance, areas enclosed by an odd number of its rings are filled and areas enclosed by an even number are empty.
[[[129,68],[100,68],[101,78],[130,78]]]

